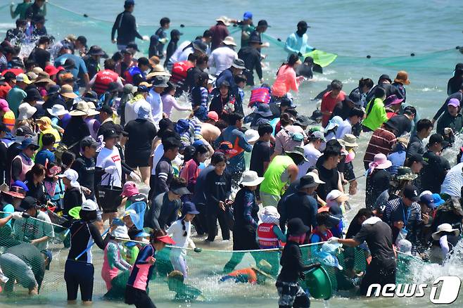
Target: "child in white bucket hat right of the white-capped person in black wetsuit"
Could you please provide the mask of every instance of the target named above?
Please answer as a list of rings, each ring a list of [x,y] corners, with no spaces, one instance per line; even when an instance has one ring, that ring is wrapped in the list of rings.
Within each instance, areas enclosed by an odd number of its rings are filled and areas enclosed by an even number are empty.
[[[113,288],[111,281],[115,276],[118,276],[119,271],[127,271],[127,269],[132,268],[132,266],[125,261],[122,253],[121,239],[130,239],[127,233],[127,227],[118,226],[113,231],[113,236],[115,236],[116,239],[110,240],[108,245],[106,245],[103,267],[101,267],[101,278],[105,281],[108,292]]]

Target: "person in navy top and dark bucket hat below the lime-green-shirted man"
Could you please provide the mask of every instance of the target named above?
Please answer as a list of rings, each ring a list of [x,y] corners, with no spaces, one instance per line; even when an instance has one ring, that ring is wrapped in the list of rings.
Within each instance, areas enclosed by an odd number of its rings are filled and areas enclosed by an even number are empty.
[[[299,185],[296,187],[297,193],[288,196],[281,205],[280,228],[286,230],[286,222],[293,218],[300,218],[306,226],[309,227],[309,232],[317,226],[317,200],[312,197],[319,184],[324,184],[323,181],[315,181],[311,175],[305,175],[300,178]],[[284,209],[284,210],[283,210]]]

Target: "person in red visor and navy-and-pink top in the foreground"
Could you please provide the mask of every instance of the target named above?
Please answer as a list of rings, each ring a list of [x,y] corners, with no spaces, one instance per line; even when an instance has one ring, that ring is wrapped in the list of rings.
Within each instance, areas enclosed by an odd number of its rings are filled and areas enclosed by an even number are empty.
[[[141,249],[130,272],[125,289],[126,304],[134,304],[137,308],[156,308],[146,293],[146,287],[153,274],[154,263],[156,262],[155,253],[163,250],[167,244],[173,245],[175,241],[164,230],[160,229],[151,233],[150,243]]]

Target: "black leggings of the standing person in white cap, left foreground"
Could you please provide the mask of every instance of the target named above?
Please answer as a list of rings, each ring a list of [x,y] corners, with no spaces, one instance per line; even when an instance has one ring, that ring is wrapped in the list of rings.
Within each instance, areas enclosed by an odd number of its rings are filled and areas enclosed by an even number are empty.
[[[64,280],[68,290],[68,300],[77,300],[80,287],[82,301],[91,301],[94,289],[94,266],[91,263],[68,259],[64,267]]]

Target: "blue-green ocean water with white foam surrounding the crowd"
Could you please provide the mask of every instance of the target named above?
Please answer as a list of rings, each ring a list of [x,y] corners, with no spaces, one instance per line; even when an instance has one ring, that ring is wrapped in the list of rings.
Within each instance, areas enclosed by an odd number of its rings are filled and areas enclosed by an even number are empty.
[[[268,55],[265,60],[264,78],[272,83],[274,74],[286,58],[286,53],[278,46],[277,38],[286,39],[288,34],[296,30],[299,20],[306,20],[311,26],[308,35],[310,44],[323,51],[337,53],[338,58],[324,74],[315,74],[315,78],[304,82],[300,91],[295,94],[298,111],[310,115],[317,106],[312,101],[319,91],[326,88],[332,79],[340,79],[345,92],[357,86],[361,77],[370,77],[376,81],[381,74],[395,77],[398,70],[409,72],[411,84],[407,86],[407,103],[414,105],[420,117],[432,117],[446,98],[447,81],[452,77],[455,64],[463,62],[463,55],[455,49],[463,46],[463,18],[462,6],[455,0],[408,0],[408,1],[153,1],[137,0],[134,15],[139,24],[142,35],[151,35],[158,28],[158,20],[168,16],[172,20],[171,29],[184,32],[184,39],[194,39],[204,30],[215,24],[215,18],[227,15],[230,18],[241,18],[244,11],[252,11],[255,23],[266,19],[271,25],[264,41],[271,46],[262,53]],[[14,21],[3,8],[8,1],[0,2],[0,37],[13,27]],[[122,11],[122,0],[53,0],[48,5],[46,27],[50,34],[62,39],[67,34],[84,35],[89,40],[89,46],[97,44],[108,53],[115,51],[115,45],[110,43],[110,29],[115,15]],[[84,17],[87,15],[88,17]],[[184,27],[180,27],[184,25]],[[232,32],[234,28],[230,29]],[[239,41],[239,32],[234,34]],[[142,51],[148,49],[146,42],[138,41]],[[410,56],[414,53],[415,56]],[[141,56],[139,54],[138,56]],[[367,58],[371,56],[371,58]],[[248,91],[248,90],[247,90]],[[187,104],[182,98],[182,103]],[[245,110],[250,113],[251,110]],[[174,117],[184,117],[184,113],[175,113]],[[363,172],[362,157],[369,135],[362,135],[357,159],[354,162],[357,176]],[[457,146],[463,143],[458,141]],[[445,153],[451,162],[455,162],[457,146]],[[353,210],[348,212],[348,218],[353,217],[356,209],[363,206],[364,180],[359,182],[359,192],[350,200]],[[49,301],[45,295],[41,300],[25,300],[24,297],[9,299],[0,297],[0,307],[13,307],[20,304],[23,307],[37,307],[53,305],[65,307],[65,289],[62,280],[63,262],[67,252],[62,250],[52,271],[46,276],[53,277],[49,285],[53,298]],[[101,261],[101,252],[96,252],[96,259]],[[461,255],[461,254],[460,254]],[[213,262],[213,260],[211,260]],[[96,295],[94,307],[127,307],[125,304],[103,302],[101,294],[100,271],[101,262],[97,262]],[[414,277],[421,277],[422,281],[432,281],[442,274],[453,274],[462,277],[462,259],[445,267],[426,266],[414,269]],[[415,273],[416,272],[416,273]],[[201,282],[201,285],[208,281]],[[236,289],[236,296],[225,302],[195,302],[177,303],[163,298],[156,298],[158,307],[276,307],[276,293],[272,285],[265,289],[241,288],[235,285],[213,285],[217,293],[230,292]],[[225,290],[227,289],[227,290]],[[165,295],[165,290],[158,290]],[[267,294],[272,297],[265,299]],[[253,295],[253,296],[249,296]],[[252,298],[251,298],[252,297]],[[454,303],[455,307],[462,306],[462,294]],[[431,303],[424,299],[379,299],[365,300],[360,298],[346,299],[335,297],[329,302],[314,301],[312,307],[430,307]]]

